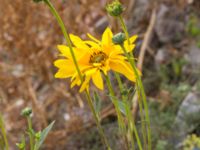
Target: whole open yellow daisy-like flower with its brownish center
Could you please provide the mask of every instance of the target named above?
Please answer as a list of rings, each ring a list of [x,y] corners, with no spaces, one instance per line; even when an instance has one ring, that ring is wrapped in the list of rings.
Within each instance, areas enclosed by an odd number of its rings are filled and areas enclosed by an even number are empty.
[[[89,87],[90,80],[93,81],[97,88],[102,90],[104,85],[101,73],[107,75],[107,72],[110,70],[123,74],[129,80],[135,82],[136,76],[131,65],[127,62],[121,47],[112,42],[113,33],[110,28],[104,31],[101,41],[90,34],[88,36],[91,40],[84,41],[78,36],[70,35],[70,39],[74,45],[73,51],[84,79],[83,83],[81,84],[69,47],[65,45],[58,45],[61,56],[64,58],[54,62],[54,65],[59,68],[55,74],[56,78],[71,77],[71,87],[81,85],[80,92]],[[135,35],[129,39],[130,45],[128,41],[124,42],[124,47],[128,52],[134,49],[135,45],[133,43],[136,38],[137,36]]]

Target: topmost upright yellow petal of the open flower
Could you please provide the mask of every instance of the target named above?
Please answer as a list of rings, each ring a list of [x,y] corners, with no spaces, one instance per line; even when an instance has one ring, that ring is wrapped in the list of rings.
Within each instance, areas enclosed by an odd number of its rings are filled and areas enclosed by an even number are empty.
[[[102,35],[102,40],[101,40],[102,44],[103,45],[111,45],[112,37],[113,37],[113,33],[112,33],[111,29],[107,27]]]

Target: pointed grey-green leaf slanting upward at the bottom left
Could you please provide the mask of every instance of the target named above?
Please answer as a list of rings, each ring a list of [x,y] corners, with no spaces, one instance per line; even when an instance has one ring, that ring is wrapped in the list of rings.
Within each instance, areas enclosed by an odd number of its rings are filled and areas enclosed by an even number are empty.
[[[46,127],[40,134],[40,139],[35,143],[34,150],[39,150],[40,146],[43,144],[44,140],[46,139],[49,131],[52,129],[55,121],[53,121],[48,127]]]

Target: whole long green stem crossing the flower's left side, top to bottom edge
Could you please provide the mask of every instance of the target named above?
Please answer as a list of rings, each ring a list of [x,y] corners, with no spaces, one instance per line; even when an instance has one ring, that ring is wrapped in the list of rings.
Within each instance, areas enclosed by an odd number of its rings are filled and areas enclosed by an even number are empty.
[[[71,43],[69,34],[68,34],[68,32],[67,32],[67,30],[66,30],[66,28],[65,28],[65,25],[64,25],[64,23],[63,23],[61,17],[59,16],[58,12],[56,11],[56,9],[55,9],[54,6],[51,4],[51,2],[50,2],[49,0],[44,0],[44,2],[49,6],[49,8],[50,8],[52,14],[56,17],[57,22],[58,22],[58,24],[60,25],[60,28],[61,28],[61,30],[62,30],[62,32],[63,32],[64,37],[65,37],[65,40],[66,40],[66,42],[67,42],[67,44],[68,44],[68,46],[69,46],[70,53],[71,53],[73,62],[74,62],[74,64],[75,64],[76,70],[77,70],[77,72],[78,72],[78,75],[79,75],[79,77],[80,77],[80,79],[81,79],[81,82],[83,82],[83,77],[82,77],[82,75],[81,75],[81,71],[80,71],[80,68],[79,68],[79,66],[78,66],[78,62],[77,62],[77,60],[76,60],[76,56],[75,56],[74,51],[73,51],[73,48],[72,48],[72,43]],[[105,137],[105,135],[104,135],[104,133],[103,133],[103,129],[102,129],[101,125],[100,125],[100,122],[99,122],[99,120],[98,120],[98,118],[97,118],[97,114],[96,114],[96,112],[95,112],[94,105],[93,105],[93,103],[92,103],[92,99],[91,99],[91,97],[90,97],[90,94],[89,94],[88,91],[86,91],[85,93],[86,93],[86,97],[87,97],[87,101],[88,101],[89,107],[90,107],[90,109],[91,109],[91,111],[92,111],[92,113],[93,113],[93,116],[94,116],[94,118],[95,118],[95,122],[96,122],[96,124],[97,124],[97,128],[98,128],[98,131],[99,131],[99,133],[100,133],[100,136],[101,136],[102,140],[104,141],[104,144],[106,145],[107,149],[108,149],[108,150],[111,150],[111,148],[110,148],[110,146],[109,146],[109,143],[108,143],[108,141],[107,141],[107,139],[106,139],[106,137]]]

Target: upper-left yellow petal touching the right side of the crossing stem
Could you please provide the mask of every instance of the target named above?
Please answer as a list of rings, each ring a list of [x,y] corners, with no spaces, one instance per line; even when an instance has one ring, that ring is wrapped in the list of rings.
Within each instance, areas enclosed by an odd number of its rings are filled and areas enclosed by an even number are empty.
[[[75,47],[81,48],[81,50],[87,50],[89,48],[78,36],[73,34],[70,34],[69,36]]]

